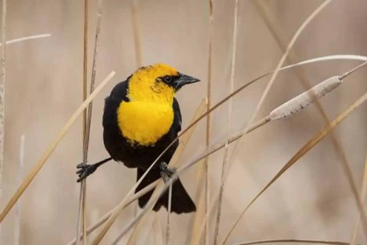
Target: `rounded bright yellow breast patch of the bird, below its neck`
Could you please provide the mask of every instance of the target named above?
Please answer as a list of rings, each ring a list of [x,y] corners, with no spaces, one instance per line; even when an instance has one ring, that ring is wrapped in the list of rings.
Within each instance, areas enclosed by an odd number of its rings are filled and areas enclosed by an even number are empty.
[[[174,112],[169,104],[146,101],[122,101],[117,110],[121,133],[132,143],[153,145],[164,136],[173,123]]]

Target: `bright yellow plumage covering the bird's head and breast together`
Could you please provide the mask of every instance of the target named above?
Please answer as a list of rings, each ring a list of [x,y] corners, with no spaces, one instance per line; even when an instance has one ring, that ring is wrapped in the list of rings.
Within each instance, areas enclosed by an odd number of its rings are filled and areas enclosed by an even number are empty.
[[[175,91],[157,78],[177,74],[166,64],[142,67],[132,74],[127,92],[130,101],[122,101],[117,110],[119,129],[131,143],[154,145],[170,130]]]

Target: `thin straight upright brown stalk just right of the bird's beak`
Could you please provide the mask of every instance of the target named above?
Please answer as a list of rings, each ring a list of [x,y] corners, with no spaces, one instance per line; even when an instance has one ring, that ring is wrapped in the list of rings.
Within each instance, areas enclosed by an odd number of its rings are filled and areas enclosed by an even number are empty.
[[[213,1],[209,0],[209,55],[208,55],[208,85],[207,85],[207,111],[211,107],[211,86],[212,86],[212,63],[213,63]],[[206,147],[209,147],[211,138],[211,114],[207,115],[206,122]],[[207,212],[210,201],[210,169],[209,169],[209,156],[204,159],[204,176],[205,176],[205,205],[204,210]],[[209,226],[205,227],[205,244],[209,245]]]

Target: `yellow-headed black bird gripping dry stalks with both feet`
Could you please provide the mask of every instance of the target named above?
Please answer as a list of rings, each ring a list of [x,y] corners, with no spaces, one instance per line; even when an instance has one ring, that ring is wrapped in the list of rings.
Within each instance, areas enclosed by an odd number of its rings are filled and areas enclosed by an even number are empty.
[[[185,85],[200,79],[178,72],[164,63],[142,66],[126,80],[117,83],[105,98],[102,126],[103,143],[110,157],[95,164],[77,165],[77,182],[87,178],[102,164],[114,160],[137,169],[137,181],[181,131],[182,115],[176,93]],[[169,180],[175,169],[170,162],[179,140],[158,159],[135,193],[157,179]],[[143,208],[154,190],[138,199]],[[158,199],[153,210],[168,210],[168,191]],[[178,178],[172,184],[171,213],[190,213],[196,205]]]

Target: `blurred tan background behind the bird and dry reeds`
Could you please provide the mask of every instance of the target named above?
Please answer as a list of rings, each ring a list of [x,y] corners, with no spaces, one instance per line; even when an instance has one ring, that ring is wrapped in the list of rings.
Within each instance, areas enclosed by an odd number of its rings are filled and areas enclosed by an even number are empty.
[[[235,87],[274,69],[283,54],[255,0],[239,1],[239,23]],[[83,75],[82,0],[8,1],[7,40],[51,33],[52,36],[7,46],[6,50],[6,133],[4,206],[18,185],[18,152],[25,134],[25,167],[28,173],[57,132],[81,104]],[[91,74],[97,0],[90,0],[88,79]],[[264,1],[284,32],[291,38],[297,28],[319,6],[321,0]],[[182,89],[177,98],[183,128],[191,120],[207,86],[208,1],[139,1],[142,62],[165,62],[202,82]],[[367,3],[363,0],[334,0],[302,32],[294,48],[301,60],[332,54],[367,55]],[[233,30],[234,0],[214,0],[213,102],[228,91]],[[328,61],[304,66],[313,84],[340,75],[357,61]],[[99,84],[110,71],[113,80],[94,100],[89,162],[108,156],[102,141],[103,99],[110,89],[135,69],[130,1],[104,1],[97,61]],[[345,80],[321,100],[334,119],[367,89],[366,68]],[[248,123],[270,77],[260,80],[233,100],[231,132]],[[270,90],[257,119],[304,91],[293,70],[281,72]],[[336,134],[346,152],[358,187],[361,187],[366,156],[366,105],[342,122]],[[212,141],[226,135],[228,104],[213,114]],[[315,105],[292,117],[271,122],[249,134],[225,185],[219,239],[228,231],[243,208],[303,144],[324,126]],[[67,244],[76,234],[79,184],[76,165],[81,162],[81,117],[48,159],[46,165],[21,198],[21,244]],[[205,149],[205,122],[197,127],[182,163]],[[232,150],[232,148],[231,148]],[[211,191],[218,187],[223,151],[210,158]],[[195,168],[182,176],[191,197],[195,196]],[[88,225],[119,203],[136,181],[135,170],[110,162],[87,181]],[[166,210],[159,213],[162,226]],[[120,215],[101,244],[110,244],[134,216],[134,205]],[[275,238],[329,239],[349,241],[357,209],[335,152],[327,136],[282,176],[248,210],[228,244]],[[191,215],[172,215],[171,244],[185,240]],[[154,244],[151,223],[138,244]],[[214,221],[211,222],[214,234]],[[2,223],[1,244],[13,243],[14,208]],[[94,233],[95,234],[95,233]],[[93,235],[94,235],[93,234]],[[211,241],[212,241],[211,234]],[[165,232],[162,231],[162,236]],[[360,231],[358,241],[366,243]],[[120,244],[125,244],[123,238]]]

